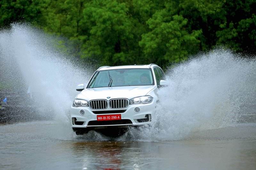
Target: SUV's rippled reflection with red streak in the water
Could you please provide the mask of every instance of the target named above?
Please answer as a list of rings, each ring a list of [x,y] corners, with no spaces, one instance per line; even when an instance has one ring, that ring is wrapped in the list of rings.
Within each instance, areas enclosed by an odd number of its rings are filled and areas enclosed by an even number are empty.
[[[83,163],[82,169],[119,170],[140,155],[140,149],[132,142],[114,141],[76,142],[72,144],[72,152]]]

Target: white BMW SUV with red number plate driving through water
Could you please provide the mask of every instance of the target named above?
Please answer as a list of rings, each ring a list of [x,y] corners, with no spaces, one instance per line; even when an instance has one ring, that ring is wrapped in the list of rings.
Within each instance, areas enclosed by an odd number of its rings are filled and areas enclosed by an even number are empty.
[[[129,126],[151,124],[157,91],[166,85],[164,72],[156,64],[100,67],[86,86],[76,88],[81,93],[71,106],[73,131],[111,135]]]

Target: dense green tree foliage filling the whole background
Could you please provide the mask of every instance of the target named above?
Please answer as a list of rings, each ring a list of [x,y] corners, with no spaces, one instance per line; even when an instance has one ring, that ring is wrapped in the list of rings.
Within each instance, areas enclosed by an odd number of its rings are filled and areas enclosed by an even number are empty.
[[[0,26],[29,22],[99,65],[162,67],[222,45],[255,54],[256,0],[1,0]]]

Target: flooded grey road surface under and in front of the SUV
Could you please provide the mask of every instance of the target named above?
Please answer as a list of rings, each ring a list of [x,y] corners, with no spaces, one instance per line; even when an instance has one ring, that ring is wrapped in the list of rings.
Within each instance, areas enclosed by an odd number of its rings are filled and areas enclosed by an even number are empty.
[[[256,124],[175,141],[76,136],[56,121],[0,126],[0,169],[255,169]]]

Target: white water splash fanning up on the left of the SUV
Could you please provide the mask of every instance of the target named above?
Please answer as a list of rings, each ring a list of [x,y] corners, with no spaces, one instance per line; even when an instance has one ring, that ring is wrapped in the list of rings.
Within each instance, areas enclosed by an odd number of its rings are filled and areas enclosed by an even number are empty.
[[[26,24],[13,24],[11,30],[2,31],[2,84],[8,84],[8,90],[29,93],[29,100],[20,96],[22,105],[36,106],[36,114],[53,115],[69,124],[69,107],[77,94],[76,85],[87,81],[90,71],[58,52],[53,40]]]

